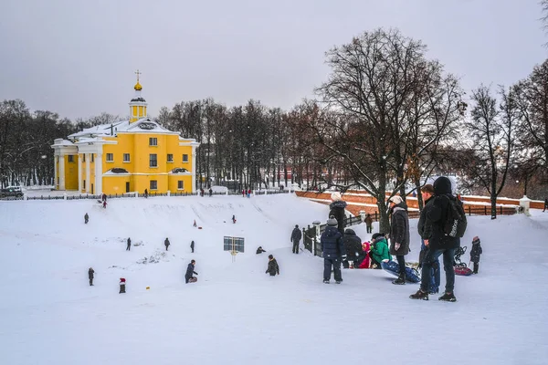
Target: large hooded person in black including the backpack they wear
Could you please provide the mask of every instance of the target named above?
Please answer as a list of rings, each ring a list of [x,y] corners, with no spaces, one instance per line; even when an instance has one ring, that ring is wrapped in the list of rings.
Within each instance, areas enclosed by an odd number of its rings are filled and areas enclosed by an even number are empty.
[[[437,257],[443,255],[443,266],[446,272],[446,288],[439,300],[455,302],[455,270],[453,258],[455,251],[460,246],[460,237],[466,230],[466,215],[462,203],[453,196],[451,181],[440,176],[434,182],[434,200],[428,208],[425,224],[430,224],[432,234],[425,239],[428,247],[427,255],[422,265],[422,276],[420,289],[409,296],[412,299],[428,300],[428,285],[430,283],[430,272]]]

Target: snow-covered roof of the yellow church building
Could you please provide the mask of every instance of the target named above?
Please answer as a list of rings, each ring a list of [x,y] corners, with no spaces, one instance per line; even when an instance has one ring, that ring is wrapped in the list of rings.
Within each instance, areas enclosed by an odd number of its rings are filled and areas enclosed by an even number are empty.
[[[172,130],[163,128],[160,124],[150,118],[142,118],[130,123],[130,120],[121,120],[111,124],[100,124],[86,128],[68,136],[69,139],[80,140],[81,138],[95,138],[116,135],[118,133],[162,133],[179,134]]]

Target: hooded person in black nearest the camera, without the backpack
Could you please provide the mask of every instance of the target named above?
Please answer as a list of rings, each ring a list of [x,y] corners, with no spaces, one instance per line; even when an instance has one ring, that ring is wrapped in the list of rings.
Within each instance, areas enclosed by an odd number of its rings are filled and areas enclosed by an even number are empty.
[[[455,257],[455,251],[460,246],[460,238],[445,235],[443,231],[443,226],[448,217],[449,201],[457,199],[452,194],[451,181],[447,177],[440,176],[436,179],[434,182],[434,195],[432,205],[429,205],[426,213],[427,220],[425,226],[429,226],[428,224],[431,225],[432,234],[428,239],[425,239],[428,253],[422,265],[420,289],[410,297],[412,299],[428,300],[429,273],[437,257],[443,255],[443,268],[446,272],[446,289],[445,294],[438,299],[454,302],[457,299],[453,292],[455,288],[453,258]]]

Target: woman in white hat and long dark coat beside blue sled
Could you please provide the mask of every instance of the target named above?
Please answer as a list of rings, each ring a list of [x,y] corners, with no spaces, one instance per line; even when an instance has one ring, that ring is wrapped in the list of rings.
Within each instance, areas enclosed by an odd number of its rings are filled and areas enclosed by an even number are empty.
[[[399,276],[392,284],[406,284],[406,255],[409,253],[409,217],[407,204],[401,196],[389,200],[392,219],[390,222],[390,255],[395,255],[399,266]]]

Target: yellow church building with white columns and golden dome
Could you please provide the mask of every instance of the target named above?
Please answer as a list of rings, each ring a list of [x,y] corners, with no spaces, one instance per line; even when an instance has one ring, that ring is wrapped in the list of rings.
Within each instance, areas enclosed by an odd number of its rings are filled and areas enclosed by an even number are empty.
[[[56,190],[195,193],[199,143],[147,118],[139,73],[133,89],[130,120],[98,125],[54,141]]]

